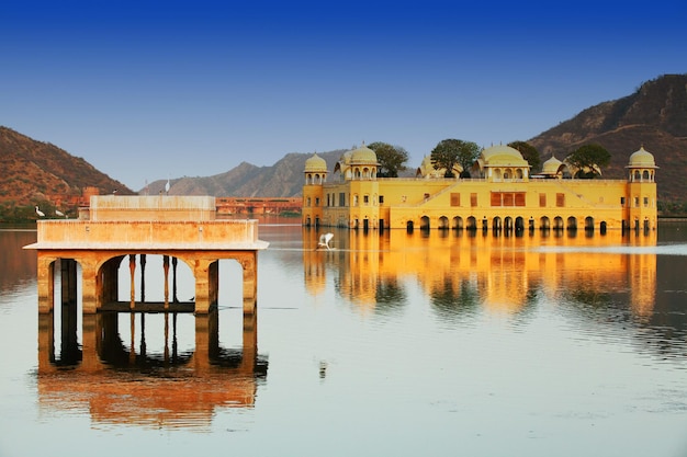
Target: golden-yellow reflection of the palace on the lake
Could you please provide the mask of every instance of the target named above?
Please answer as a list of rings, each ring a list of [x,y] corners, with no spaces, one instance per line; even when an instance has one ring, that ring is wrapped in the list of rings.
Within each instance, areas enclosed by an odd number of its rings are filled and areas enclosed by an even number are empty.
[[[336,230],[333,251],[315,250],[316,230],[306,228],[303,237],[309,293],[324,290],[333,274],[337,292],[363,312],[403,305],[399,284],[408,277],[442,312],[517,313],[542,295],[556,302],[615,292],[629,292],[635,316],[654,307],[656,254],[630,250],[655,247],[655,231]]]

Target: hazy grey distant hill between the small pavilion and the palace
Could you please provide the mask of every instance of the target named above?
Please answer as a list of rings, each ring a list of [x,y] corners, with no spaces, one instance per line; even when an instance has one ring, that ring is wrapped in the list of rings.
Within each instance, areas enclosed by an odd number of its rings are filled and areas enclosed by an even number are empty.
[[[327,169],[334,170],[345,149],[318,152],[325,159]],[[232,170],[206,178],[183,176],[170,180],[172,195],[214,195],[227,197],[293,197],[303,191],[305,161],[312,152],[291,152],[271,167],[256,167],[241,162]],[[158,180],[139,191],[154,195],[162,192],[167,180]]]

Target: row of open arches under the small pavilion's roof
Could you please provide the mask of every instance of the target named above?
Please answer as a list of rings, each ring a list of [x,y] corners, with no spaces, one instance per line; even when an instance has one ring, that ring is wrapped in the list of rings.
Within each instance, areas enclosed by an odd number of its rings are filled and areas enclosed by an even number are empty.
[[[40,304],[40,310],[49,312],[56,301],[64,306],[81,302],[81,298],[88,297],[89,305],[83,302],[83,312],[89,313],[97,312],[105,304],[124,302],[129,302],[132,309],[151,302],[164,302],[166,308],[167,304],[185,302],[191,305],[192,311],[204,312],[203,308],[198,308],[198,294],[203,294],[203,307],[218,304],[221,263],[226,263],[222,269],[228,274],[224,281],[229,279],[233,284],[243,282],[244,286],[228,287],[229,299],[234,301],[243,293],[246,306],[246,298],[255,297],[255,290],[251,290],[256,284],[255,264],[250,259],[237,255],[201,263],[204,266],[199,270],[199,262],[194,262],[192,255],[162,253],[103,253],[98,262],[68,253],[42,255],[40,269],[45,270],[45,278],[40,284],[40,298],[44,298],[45,302]],[[178,284],[178,276],[184,281]],[[146,289],[147,282],[151,282],[153,289]]]

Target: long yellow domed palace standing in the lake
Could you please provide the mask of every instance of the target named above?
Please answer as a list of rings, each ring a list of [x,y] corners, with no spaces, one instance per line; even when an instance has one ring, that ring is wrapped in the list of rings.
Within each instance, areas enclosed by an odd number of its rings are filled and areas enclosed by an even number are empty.
[[[316,153],[305,162],[303,225],[362,229],[610,229],[656,228],[657,169],[640,148],[626,180],[571,179],[576,170],[551,157],[530,174],[508,146],[483,149],[471,179],[446,179],[429,157],[416,178],[376,178],[374,151],[346,152],[329,179]],[[460,170],[457,170],[460,171]],[[458,174],[458,173],[457,173]]]

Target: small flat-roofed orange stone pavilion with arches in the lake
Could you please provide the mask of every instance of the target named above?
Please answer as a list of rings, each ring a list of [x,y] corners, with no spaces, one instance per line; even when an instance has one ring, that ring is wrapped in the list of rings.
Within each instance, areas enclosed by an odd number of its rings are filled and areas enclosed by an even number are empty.
[[[56,275],[61,275],[63,304],[77,300],[77,264],[81,270],[85,315],[109,308],[129,310],[182,307],[207,313],[216,306],[219,287],[218,261],[236,260],[243,269],[244,312],[255,312],[258,286],[258,251],[268,242],[258,239],[258,221],[216,219],[215,198],[210,196],[92,196],[79,219],[37,221],[37,240],[24,249],[38,256],[38,312],[54,307]],[[145,258],[164,258],[165,301],[135,300],[134,277],[145,270]],[[169,298],[168,276],[177,262],[185,262],[195,278],[194,301],[178,304]],[[117,297],[117,271],[127,262],[131,297]]]

